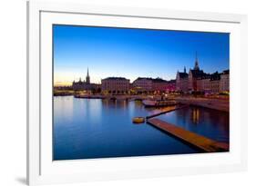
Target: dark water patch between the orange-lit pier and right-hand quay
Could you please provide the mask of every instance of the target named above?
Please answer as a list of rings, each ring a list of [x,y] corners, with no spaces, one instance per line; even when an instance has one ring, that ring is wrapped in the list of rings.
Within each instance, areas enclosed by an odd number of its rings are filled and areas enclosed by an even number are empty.
[[[187,107],[158,117],[218,142],[230,142],[229,113],[204,107]]]

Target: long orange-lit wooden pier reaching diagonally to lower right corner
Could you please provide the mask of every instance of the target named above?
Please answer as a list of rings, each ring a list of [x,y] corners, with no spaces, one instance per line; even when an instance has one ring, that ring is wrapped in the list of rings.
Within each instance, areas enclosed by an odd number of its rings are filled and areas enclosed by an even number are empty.
[[[202,152],[229,152],[229,143],[213,141],[197,133],[189,132],[179,126],[156,118],[149,119],[147,122],[159,130],[178,138],[182,142],[189,143]]]

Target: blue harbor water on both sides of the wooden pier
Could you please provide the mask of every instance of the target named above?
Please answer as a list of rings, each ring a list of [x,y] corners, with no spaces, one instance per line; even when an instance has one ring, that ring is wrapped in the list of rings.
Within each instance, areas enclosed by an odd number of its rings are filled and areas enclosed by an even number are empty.
[[[200,109],[200,122],[191,121],[189,112],[177,111],[159,118],[178,123],[190,131],[212,139],[228,141],[228,115]],[[140,102],[54,97],[54,160],[195,153],[147,123],[133,124],[135,116],[152,113]],[[218,122],[218,123],[217,123]],[[220,123],[219,123],[220,122]],[[227,122],[227,124],[226,124]],[[213,130],[212,132],[207,132]],[[224,132],[225,131],[225,132]],[[227,136],[225,136],[227,134]]]

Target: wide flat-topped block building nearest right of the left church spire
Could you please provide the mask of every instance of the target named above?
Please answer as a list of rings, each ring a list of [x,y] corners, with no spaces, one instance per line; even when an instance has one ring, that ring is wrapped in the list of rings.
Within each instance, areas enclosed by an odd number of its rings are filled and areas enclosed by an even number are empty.
[[[101,92],[124,94],[129,91],[129,80],[124,77],[108,77],[101,80]]]

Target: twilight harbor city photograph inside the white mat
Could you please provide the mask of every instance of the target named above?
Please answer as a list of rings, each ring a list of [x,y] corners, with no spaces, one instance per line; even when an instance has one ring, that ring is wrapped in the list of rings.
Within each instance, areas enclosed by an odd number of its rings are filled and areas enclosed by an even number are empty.
[[[230,33],[52,34],[53,161],[230,152]]]

